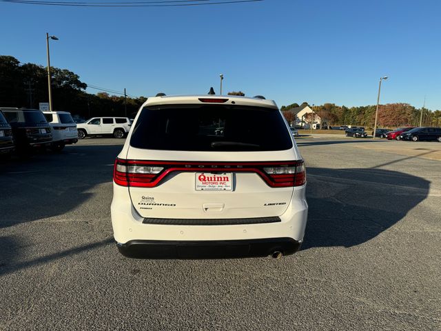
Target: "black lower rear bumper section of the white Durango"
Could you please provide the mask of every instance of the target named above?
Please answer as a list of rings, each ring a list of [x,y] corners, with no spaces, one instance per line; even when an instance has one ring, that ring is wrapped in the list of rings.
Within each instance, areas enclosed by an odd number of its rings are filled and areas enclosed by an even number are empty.
[[[136,259],[236,259],[267,257],[273,252],[294,254],[301,242],[291,238],[223,241],[132,240],[117,243],[125,257]]]

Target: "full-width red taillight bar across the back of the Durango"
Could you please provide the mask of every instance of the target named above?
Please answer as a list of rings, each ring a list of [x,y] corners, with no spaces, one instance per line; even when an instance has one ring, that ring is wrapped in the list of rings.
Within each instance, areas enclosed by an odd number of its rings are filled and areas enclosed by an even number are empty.
[[[171,172],[254,172],[272,188],[306,183],[303,161],[281,162],[181,162],[116,159],[114,182],[122,186],[153,188]]]

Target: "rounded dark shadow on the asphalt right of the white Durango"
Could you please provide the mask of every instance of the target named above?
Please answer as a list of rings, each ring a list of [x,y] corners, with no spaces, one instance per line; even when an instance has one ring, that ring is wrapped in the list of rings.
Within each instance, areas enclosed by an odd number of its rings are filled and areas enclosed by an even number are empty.
[[[430,182],[380,169],[307,169],[309,215],[302,249],[360,245],[426,199]]]

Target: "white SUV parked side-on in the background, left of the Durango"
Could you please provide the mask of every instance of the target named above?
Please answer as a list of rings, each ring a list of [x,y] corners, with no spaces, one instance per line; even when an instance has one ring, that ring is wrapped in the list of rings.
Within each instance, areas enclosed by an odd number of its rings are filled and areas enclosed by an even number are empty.
[[[123,138],[130,131],[132,122],[128,117],[93,117],[84,123],[77,123],[79,139],[86,136],[112,134],[115,138]]]

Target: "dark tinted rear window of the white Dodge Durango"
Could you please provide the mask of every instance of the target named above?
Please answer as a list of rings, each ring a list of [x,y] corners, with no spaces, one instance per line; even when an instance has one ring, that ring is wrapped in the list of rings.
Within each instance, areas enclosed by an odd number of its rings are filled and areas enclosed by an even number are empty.
[[[145,107],[130,145],[151,150],[269,151],[292,148],[276,109],[182,105]]]

